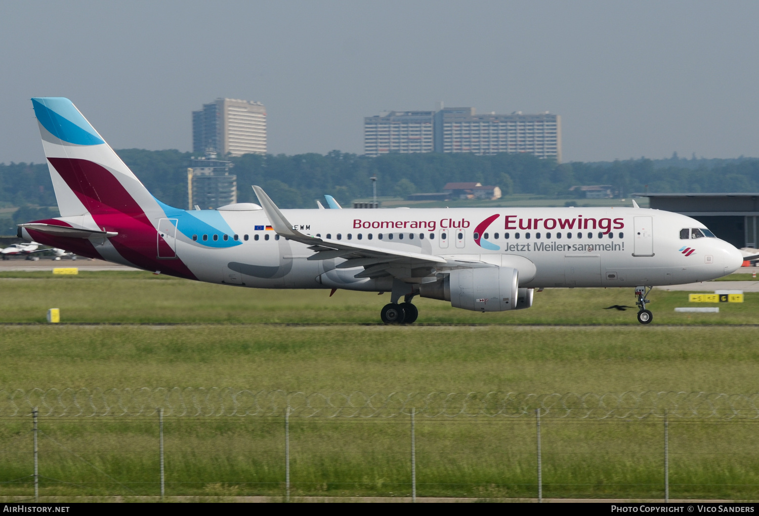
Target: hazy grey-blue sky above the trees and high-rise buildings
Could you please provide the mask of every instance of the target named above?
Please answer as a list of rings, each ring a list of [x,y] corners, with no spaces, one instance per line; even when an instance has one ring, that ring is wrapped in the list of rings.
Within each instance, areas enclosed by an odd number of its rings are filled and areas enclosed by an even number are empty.
[[[0,3],[0,162],[43,162],[32,96],[117,149],[191,149],[191,111],[266,105],[269,152],[362,153],[363,117],[562,116],[565,161],[759,156],[759,2]]]

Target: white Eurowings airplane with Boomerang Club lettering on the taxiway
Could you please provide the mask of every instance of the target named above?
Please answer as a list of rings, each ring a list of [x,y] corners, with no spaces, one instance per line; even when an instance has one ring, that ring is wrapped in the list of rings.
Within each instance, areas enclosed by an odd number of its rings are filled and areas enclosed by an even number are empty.
[[[153,197],[74,104],[32,99],[61,216],[18,234],[80,256],[222,285],[390,292],[384,323],[413,323],[416,296],[477,312],[522,310],[543,288],[703,282],[743,263],[677,213],[631,208],[174,208]],[[579,308],[579,307],[578,307]]]

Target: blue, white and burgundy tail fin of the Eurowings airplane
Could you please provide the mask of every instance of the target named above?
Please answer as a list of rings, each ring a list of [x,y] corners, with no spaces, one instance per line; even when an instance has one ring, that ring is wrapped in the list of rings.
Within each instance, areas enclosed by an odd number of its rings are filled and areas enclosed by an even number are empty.
[[[61,217],[162,216],[158,201],[69,99],[32,99]]]

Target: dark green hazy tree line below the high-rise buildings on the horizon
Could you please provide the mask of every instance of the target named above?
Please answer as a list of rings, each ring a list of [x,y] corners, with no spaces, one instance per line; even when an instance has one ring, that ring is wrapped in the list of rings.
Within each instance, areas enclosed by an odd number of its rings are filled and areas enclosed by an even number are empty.
[[[121,159],[159,200],[187,207],[187,167],[191,154],[178,150],[122,149]],[[376,175],[377,195],[405,197],[439,192],[451,181],[478,181],[504,194],[534,193],[574,199],[574,185],[610,184],[619,197],[631,193],[717,193],[759,191],[759,159],[628,159],[615,162],[556,163],[529,154],[391,154],[368,158],[332,151],[294,156],[248,154],[231,158],[237,175],[238,201],[255,202],[251,184],[261,185],[283,208],[310,208],[313,200],[331,194],[340,203],[371,197],[370,177]],[[0,206],[21,206],[24,221],[49,216],[55,206],[46,164],[0,164]],[[45,212],[45,213],[43,213]],[[0,228],[10,221],[2,220]],[[9,216],[5,216],[9,219]],[[7,232],[3,229],[0,233]]]

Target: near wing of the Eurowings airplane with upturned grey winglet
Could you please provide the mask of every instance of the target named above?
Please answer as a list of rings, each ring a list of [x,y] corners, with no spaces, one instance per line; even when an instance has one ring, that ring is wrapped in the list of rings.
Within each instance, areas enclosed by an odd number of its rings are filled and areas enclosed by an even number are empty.
[[[285,219],[285,216],[279,211],[276,204],[269,199],[269,196],[266,195],[266,192],[261,187],[254,186],[253,189],[256,192],[258,200],[260,200],[266,217],[272,223],[272,228],[274,228],[277,234],[290,240],[307,244],[310,250],[316,251],[313,256],[308,257],[308,260],[345,258],[348,261],[340,263],[337,266],[338,269],[364,267],[364,272],[359,272],[355,276],[356,278],[376,278],[383,275],[393,275],[411,282],[422,282],[421,278],[428,278],[430,276],[434,278],[435,266],[446,266],[449,263],[449,260],[431,254],[390,250],[383,247],[327,240],[326,238],[303,234],[293,229],[292,224]]]

